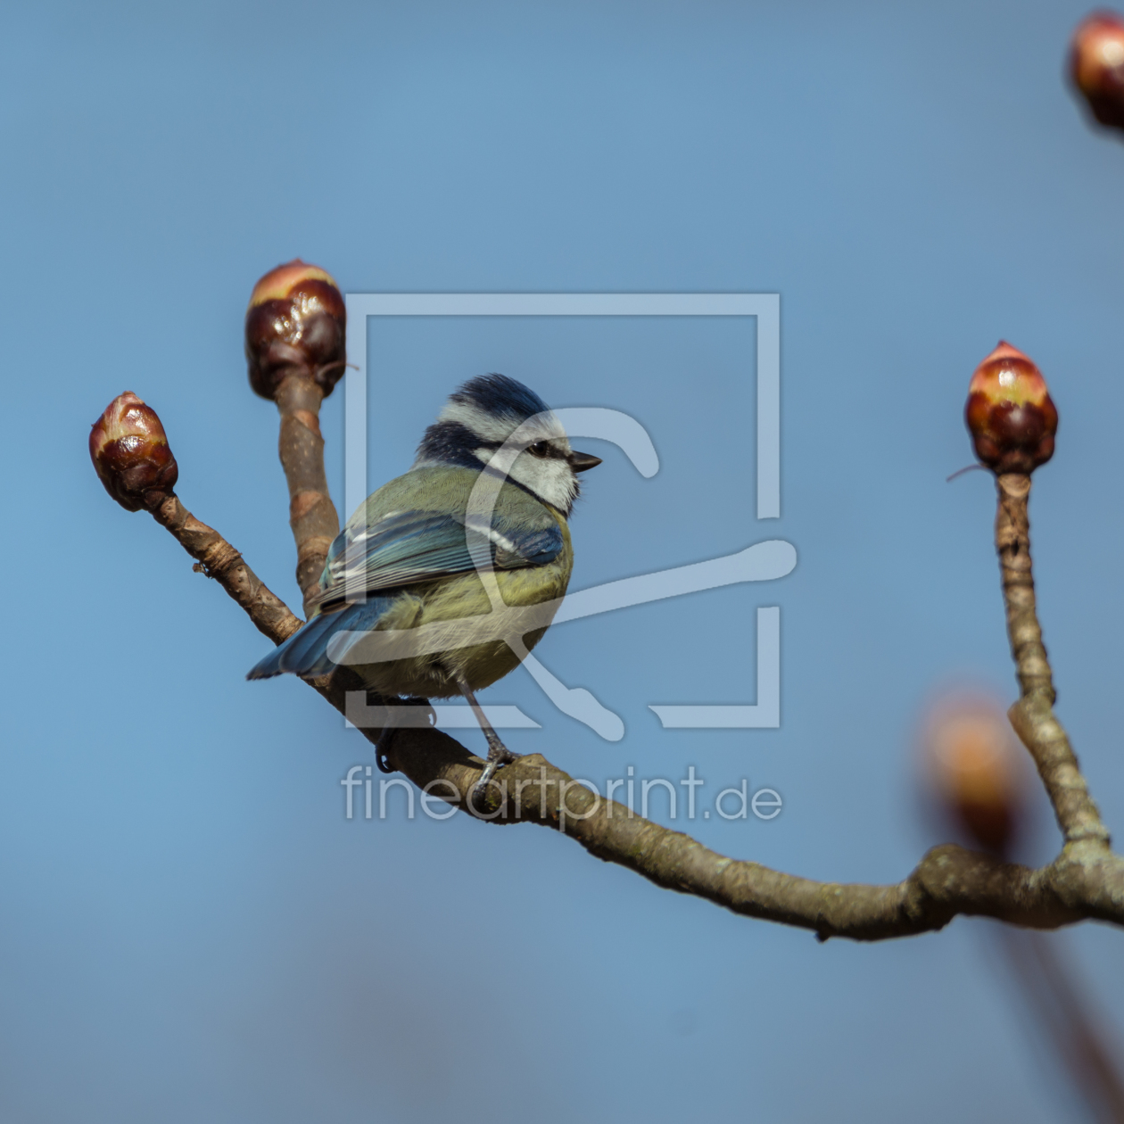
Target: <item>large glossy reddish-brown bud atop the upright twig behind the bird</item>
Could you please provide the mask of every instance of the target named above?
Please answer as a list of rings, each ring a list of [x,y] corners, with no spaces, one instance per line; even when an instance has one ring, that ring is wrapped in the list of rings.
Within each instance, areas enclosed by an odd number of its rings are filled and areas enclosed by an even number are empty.
[[[299,257],[254,285],[246,309],[250,384],[274,398],[287,374],[303,371],[325,397],[346,363],[347,310],[335,281]]]

